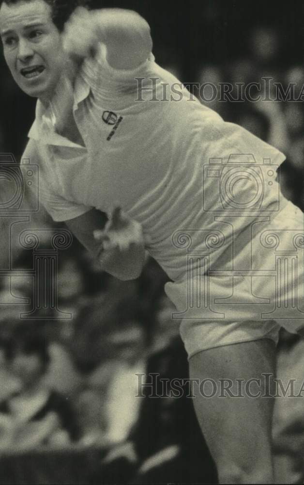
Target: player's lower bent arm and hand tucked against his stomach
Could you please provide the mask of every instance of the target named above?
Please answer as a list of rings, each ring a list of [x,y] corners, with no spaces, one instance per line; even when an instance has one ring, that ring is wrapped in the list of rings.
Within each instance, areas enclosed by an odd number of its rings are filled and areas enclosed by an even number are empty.
[[[120,209],[113,210],[109,221],[106,214],[92,209],[65,223],[102,270],[123,281],[140,275],[145,262],[141,226]]]

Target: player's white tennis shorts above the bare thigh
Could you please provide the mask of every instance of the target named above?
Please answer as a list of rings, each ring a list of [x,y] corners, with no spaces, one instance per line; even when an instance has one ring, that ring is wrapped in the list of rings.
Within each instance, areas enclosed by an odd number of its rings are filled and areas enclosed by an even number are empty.
[[[242,237],[242,235],[240,236]],[[291,202],[233,261],[165,286],[188,356],[304,327],[304,214]]]

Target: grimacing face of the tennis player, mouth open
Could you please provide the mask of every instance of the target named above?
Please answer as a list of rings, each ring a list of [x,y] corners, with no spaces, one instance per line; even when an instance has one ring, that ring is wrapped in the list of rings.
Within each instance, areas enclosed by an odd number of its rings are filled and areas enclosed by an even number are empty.
[[[50,5],[44,0],[2,3],[0,36],[18,86],[29,96],[50,99],[66,61]]]

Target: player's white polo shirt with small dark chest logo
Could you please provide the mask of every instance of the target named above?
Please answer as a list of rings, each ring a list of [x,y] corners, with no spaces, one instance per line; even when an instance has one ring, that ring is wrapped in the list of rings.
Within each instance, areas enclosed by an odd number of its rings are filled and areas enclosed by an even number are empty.
[[[177,231],[192,231],[191,249],[206,249],[215,261],[231,257],[232,237],[252,217],[279,210],[275,177],[284,155],[201,105],[152,55],[135,70],[116,70],[101,46],[84,62],[74,117],[85,146],[56,134],[48,117],[38,101],[23,155],[39,165],[46,210],[64,221],[121,204],[173,280],[187,269]]]

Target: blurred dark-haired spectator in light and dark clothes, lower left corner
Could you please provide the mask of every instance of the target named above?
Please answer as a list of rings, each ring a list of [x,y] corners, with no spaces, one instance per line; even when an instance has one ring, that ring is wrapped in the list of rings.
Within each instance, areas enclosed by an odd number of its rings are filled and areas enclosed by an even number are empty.
[[[5,359],[21,382],[15,396],[2,401],[0,407],[2,417],[11,425],[9,449],[64,447],[76,440],[79,434],[71,405],[44,381],[48,343],[37,325],[15,326],[6,343]]]

